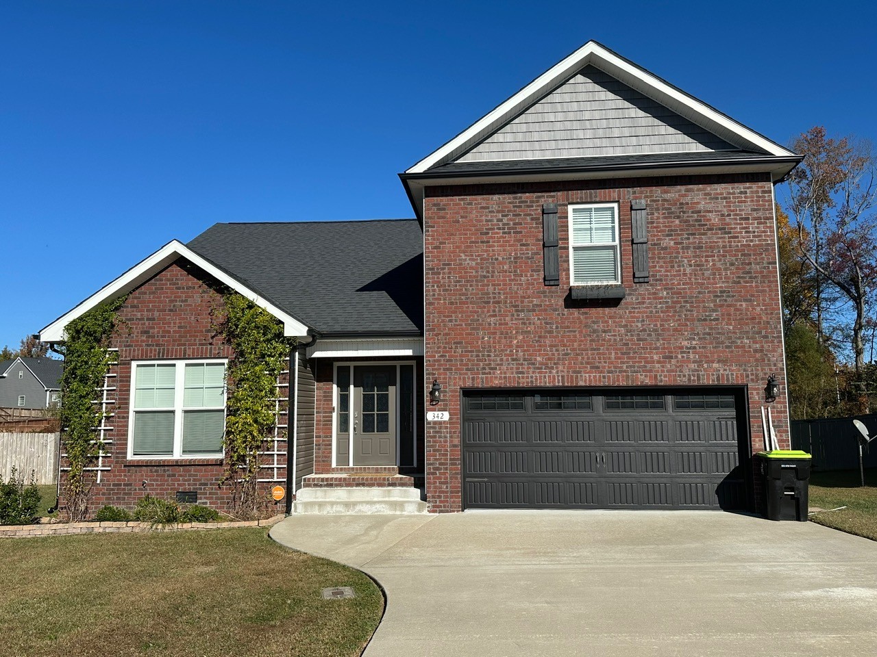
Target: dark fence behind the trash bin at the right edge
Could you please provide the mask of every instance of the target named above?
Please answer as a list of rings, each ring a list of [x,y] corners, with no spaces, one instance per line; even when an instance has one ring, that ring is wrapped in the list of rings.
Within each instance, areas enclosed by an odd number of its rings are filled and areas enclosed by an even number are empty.
[[[852,420],[861,420],[869,434],[877,435],[877,414],[792,420],[792,449],[802,449],[812,455],[813,467],[817,470],[859,470],[859,431]],[[864,456],[866,468],[877,468],[877,438]]]

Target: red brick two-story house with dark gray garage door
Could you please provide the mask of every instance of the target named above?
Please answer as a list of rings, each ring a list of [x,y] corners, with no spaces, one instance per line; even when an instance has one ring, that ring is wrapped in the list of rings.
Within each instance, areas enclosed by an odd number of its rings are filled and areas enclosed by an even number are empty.
[[[800,160],[592,41],[401,174],[416,221],[171,242],[40,334],[128,294],[96,504],[228,504],[228,286],[300,341],[264,477],[296,511],[419,510],[422,480],[433,512],[752,508],[785,378],[774,184]]]

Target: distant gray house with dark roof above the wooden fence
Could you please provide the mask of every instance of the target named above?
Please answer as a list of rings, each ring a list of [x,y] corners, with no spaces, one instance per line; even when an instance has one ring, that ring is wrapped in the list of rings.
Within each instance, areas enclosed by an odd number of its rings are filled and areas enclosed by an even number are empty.
[[[61,403],[64,364],[53,358],[0,361],[0,408],[49,408]]]

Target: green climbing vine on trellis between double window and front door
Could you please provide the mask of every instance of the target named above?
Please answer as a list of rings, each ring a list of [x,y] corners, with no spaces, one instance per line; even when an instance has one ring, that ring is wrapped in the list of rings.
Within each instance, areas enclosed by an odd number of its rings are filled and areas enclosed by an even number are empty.
[[[239,293],[226,293],[217,329],[234,356],[226,373],[225,479],[234,490],[239,517],[264,511],[259,495],[260,450],[273,437],[275,384],[294,340],[283,336],[283,325]]]

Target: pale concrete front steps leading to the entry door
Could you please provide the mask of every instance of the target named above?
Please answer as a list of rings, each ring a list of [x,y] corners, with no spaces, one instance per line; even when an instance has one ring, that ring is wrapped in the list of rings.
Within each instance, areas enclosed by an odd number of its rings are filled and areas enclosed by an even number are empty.
[[[356,513],[425,513],[420,489],[410,486],[384,488],[301,488],[293,513],[342,515]]]

